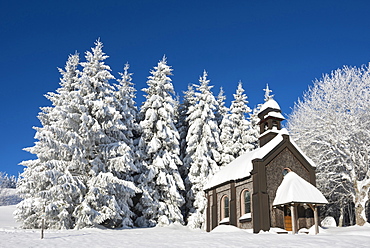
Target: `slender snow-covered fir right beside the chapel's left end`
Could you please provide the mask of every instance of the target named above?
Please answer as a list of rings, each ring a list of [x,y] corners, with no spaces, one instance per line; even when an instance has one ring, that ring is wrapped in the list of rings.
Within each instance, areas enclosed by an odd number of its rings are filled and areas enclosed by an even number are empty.
[[[189,129],[186,137],[187,148],[184,163],[189,168],[185,179],[187,190],[188,226],[203,228],[207,199],[203,191],[207,180],[219,170],[220,138],[214,115],[217,101],[211,92],[212,86],[204,71],[200,85],[196,86],[195,105],[188,110]]]

